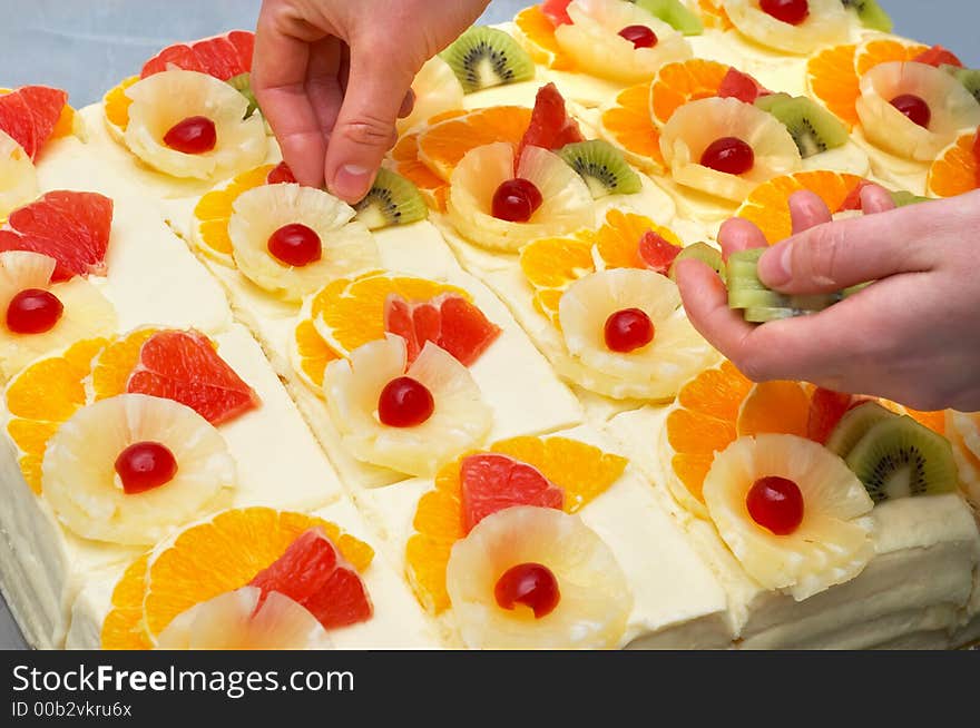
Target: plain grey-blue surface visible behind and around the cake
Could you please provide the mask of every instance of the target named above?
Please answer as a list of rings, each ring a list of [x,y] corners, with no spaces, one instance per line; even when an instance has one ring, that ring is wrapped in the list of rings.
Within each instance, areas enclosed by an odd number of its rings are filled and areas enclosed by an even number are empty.
[[[506,20],[532,2],[492,0],[486,20]],[[880,2],[892,14],[896,32],[941,42],[968,66],[980,67],[970,22],[978,18],[977,0]],[[259,4],[261,0],[0,0],[0,86],[56,86],[68,90],[72,105],[85,106],[138,72],[164,46],[252,28]],[[22,649],[23,640],[0,600],[0,649],[11,648]]]

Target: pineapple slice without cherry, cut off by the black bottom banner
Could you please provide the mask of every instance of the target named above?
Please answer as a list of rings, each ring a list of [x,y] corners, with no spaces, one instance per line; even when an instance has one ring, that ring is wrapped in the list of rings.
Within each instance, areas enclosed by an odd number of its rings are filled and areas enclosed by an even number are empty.
[[[243,587],[195,604],[160,632],[158,650],[329,650],[326,630],[277,591]]]

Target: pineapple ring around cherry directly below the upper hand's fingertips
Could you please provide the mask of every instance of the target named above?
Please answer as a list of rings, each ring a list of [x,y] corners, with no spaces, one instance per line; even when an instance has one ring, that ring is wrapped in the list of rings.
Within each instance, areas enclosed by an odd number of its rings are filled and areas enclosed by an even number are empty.
[[[354,210],[333,195],[295,184],[263,185],[235,200],[228,222],[235,263],[255,285],[293,303],[361,270],[378,268],[374,236]],[[281,227],[298,223],[320,236],[323,257],[303,267],[282,263],[268,252]]]

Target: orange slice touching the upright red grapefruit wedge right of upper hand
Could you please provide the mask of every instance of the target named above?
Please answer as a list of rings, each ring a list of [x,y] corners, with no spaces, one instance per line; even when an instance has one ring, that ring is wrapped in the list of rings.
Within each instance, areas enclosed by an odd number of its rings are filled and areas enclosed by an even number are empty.
[[[520,142],[531,110],[520,106],[494,106],[440,121],[419,135],[419,159],[445,181],[472,149],[497,141]]]

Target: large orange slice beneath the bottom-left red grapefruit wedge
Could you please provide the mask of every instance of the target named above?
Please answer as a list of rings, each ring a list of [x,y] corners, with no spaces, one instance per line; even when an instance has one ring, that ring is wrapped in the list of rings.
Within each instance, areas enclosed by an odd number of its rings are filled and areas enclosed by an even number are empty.
[[[180,533],[150,562],[143,602],[147,631],[156,637],[190,607],[246,586],[315,527],[359,572],[371,564],[370,545],[323,519],[268,508],[225,511]]]

